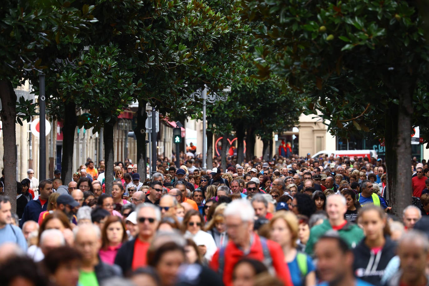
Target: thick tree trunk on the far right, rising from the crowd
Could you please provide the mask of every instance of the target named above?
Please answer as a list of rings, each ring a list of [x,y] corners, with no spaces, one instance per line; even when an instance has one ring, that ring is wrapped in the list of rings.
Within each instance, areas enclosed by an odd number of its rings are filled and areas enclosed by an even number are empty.
[[[396,217],[402,216],[402,211],[411,205],[411,117],[413,106],[409,85],[404,83],[399,105],[391,104],[389,112],[385,113],[387,184],[389,190],[389,205]]]

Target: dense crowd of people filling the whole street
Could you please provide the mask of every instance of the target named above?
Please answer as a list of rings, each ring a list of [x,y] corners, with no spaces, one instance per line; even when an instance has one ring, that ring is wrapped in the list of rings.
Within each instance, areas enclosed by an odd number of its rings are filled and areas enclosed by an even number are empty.
[[[1,284],[429,286],[426,161],[410,170],[420,204],[396,218],[382,159],[254,157],[202,170],[184,155],[180,168],[159,158],[150,179],[116,162],[110,192],[102,161],[67,185],[60,170],[38,181],[29,169],[16,213],[0,196]]]

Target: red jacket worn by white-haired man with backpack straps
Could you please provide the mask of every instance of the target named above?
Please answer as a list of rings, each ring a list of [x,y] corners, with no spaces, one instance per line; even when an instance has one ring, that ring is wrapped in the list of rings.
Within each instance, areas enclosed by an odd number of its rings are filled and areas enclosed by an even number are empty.
[[[262,244],[258,235],[254,234],[253,244],[250,248],[250,253],[246,256],[247,258],[257,259],[259,261],[264,260],[264,254]],[[292,286],[292,279],[290,278],[289,268],[287,263],[284,262],[283,250],[280,245],[274,241],[267,240],[267,246],[272,259],[272,266],[277,273],[277,277],[283,280],[284,285]],[[233,268],[234,265],[239,262],[245,255],[232,241],[229,241],[224,251],[224,270],[223,280],[225,286],[233,285]],[[210,268],[214,271],[218,271],[219,268],[219,249],[211,259]]]

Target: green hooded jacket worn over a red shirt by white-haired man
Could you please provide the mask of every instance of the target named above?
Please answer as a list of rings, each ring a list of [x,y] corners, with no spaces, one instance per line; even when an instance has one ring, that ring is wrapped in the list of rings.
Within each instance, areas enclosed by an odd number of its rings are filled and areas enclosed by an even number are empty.
[[[308,238],[307,245],[305,246],[305,252],[308,255],[313,255],[314,244],[330,229],[332,229],[332,226],[329,220],[324,220],[323,223],[313,226],[310,229],[310,238]],[[338,230],[338,235],[347,242],[350,248],[355,248],[364,238],[363,230],[356,224],[349,222],[342,229]]]

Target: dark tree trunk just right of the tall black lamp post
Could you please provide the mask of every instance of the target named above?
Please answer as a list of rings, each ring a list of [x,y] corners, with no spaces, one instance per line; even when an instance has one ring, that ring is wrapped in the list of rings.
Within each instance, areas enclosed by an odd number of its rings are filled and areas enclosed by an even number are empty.
[[[75,130],[78,120],[76,116],[76,104],[69,102],[64,104],[63,122],[63,156],[61,160],[61,180],[63,185],[68,185],[73,178],[73,150],[75,144]]]

